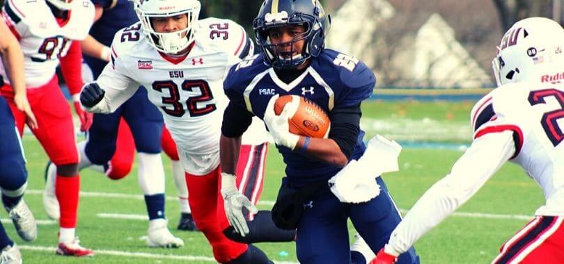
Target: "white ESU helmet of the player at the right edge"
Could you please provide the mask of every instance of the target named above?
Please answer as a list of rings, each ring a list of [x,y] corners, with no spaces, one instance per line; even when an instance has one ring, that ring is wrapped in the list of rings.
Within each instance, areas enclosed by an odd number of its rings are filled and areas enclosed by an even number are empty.
[[[542,74],[562,72],[564,30],[545,17],[530,17],[513,24],[503,35],[492,60],[497,85],[534,81]]]

